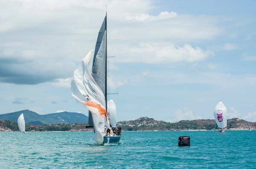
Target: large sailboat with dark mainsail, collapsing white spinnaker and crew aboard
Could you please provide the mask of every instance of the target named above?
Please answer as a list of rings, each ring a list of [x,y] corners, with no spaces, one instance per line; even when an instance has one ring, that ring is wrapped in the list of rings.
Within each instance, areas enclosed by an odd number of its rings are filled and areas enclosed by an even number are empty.
[[[93,127],[94,140],[99,144],[119,143],[121,136],[106,136],[106,130],[116,125],[116,106],[108,100],[107,86],[107,13],[99,30],[95,51],[93,49],[82,59],[76,68],[71,82],[74,99],[89,110],[88,127]],[[93,57],[92,57],[93,56]],[[92,59],[93,58],[93,59]],[[90,72],[89,66],[92,65]],[[107,110],[107,111],[106,111]],[[108,112],[108,113],[107,113]]]

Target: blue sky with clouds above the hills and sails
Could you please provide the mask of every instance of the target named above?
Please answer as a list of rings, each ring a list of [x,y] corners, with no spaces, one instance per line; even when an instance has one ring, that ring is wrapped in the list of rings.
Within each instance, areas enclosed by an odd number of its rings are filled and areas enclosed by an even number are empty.
[[[0,114],[88,115],[73,72],[95,48],[108,11],[109,88],[118,121],[256,121],[256,2],[1,0]]]

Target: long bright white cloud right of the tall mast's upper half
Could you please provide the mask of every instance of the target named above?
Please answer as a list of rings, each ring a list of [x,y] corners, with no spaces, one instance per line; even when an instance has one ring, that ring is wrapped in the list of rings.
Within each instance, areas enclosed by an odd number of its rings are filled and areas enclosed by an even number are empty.
[[[127,50],[127,51],[126,51]],[[211,51],[204,51],[199,47],[193,48],[189,44],[183,46],[172,43],[140,43],[137,47],[126,48],[130,57],[120,58],[119,62],[145,62],[151,64],[172,62],[197,62],[213,55]]]

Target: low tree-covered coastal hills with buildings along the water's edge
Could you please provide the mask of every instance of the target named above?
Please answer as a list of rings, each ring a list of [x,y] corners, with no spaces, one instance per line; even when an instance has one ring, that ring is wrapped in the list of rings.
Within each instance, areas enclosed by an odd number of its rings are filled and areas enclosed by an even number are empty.
[[[54,113],[55,114],[55,113]],[[65,113],[64,113],[65,114]],[[31,124],[35,123],[35,124]],[[93,128],[87,129],[87,123],[75,124],[44,124],[40,125],[40,121],[26,123],[27,131],[93,131]],[[248,122],[252,130],[256,130],[256,122]],[[157,121],[154,118],[141,117],[132,121],[120,121],[117,125],[122,126],[122,131],[149,131],[149,130],[215,130],[215,120],[182,120],[176,123],[165,121]],[[238,118],[228,119],[227,130],[248,130],[246,121]],[[0,120],[0,131],[18,131],[17,121]]]

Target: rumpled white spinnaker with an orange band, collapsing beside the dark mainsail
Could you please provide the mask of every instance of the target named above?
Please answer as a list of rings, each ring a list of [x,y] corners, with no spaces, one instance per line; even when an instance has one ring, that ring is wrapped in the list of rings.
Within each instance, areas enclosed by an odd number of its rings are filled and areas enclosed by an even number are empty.
[[[76,68],[71,82],[71,93],[79,104],[91,111],[95,131],[94,140],[98,144],[102,144],[105,135],[104,127],[107,121],[107,113],[105,110],[105,96],[88,69],[88,63],[92,55],[93,49]]]

